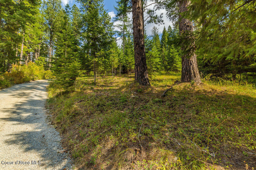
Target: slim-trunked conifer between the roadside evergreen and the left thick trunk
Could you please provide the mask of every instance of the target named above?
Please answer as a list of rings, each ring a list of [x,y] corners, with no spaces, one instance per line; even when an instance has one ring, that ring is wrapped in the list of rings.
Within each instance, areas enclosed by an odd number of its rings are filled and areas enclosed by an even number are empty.
[[[94,83],[100,62],[104,60],[109,44],[113,40],[110,16],[104,10],[102,0],[84,0],[82,39],[84,41],[83,51],[93,65]]]

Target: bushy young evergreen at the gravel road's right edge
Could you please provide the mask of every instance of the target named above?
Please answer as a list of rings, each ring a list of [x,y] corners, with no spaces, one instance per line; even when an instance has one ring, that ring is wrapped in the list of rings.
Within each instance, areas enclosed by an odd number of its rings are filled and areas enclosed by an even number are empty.
[[[52,71],[56,76],[56,82],[64,85],[66,88],[72,87],[76,78],[80,75],[80,63],[77,61],[79,40],[76,27],[77,9],[76,6],[71,11],[69,4],[65,6],[60,15],[60,25],[56,33],[55,56],[53,60]]]

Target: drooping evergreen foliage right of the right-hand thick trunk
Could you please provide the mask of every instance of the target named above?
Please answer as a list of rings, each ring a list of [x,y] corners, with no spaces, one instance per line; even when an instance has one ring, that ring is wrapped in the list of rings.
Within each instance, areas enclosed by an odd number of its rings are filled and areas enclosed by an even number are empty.
[[[192,0],[190,6],[187,16],[196,21],[202,71],[231,73],[235,80],[237,73],[256,70],[255,1]]]

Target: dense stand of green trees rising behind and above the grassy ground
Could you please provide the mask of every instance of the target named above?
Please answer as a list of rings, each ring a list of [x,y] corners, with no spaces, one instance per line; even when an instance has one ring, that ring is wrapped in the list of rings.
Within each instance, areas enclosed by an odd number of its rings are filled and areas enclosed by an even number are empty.
[[[147,74],[181,70],[183,82],[200,82],[199,72],[248,80],[255,77],[256,69],[254,3],[120,0],[114,25],[103,1],[79,1],[80,7],[62,7],[55,0],[3,1],[0,70],[10,72],[12,65],[36,62],[60,81],[75,79],[80,72],[93,72],[95,81],[97,74],[135,73],[135,81],[150,85]],[[135,5],[145,16],[133,9]],[[162,8],[173,27],[160,30],[159,39],[157,27],[147,33],[144,27],[164,24],[163,14],[154,13]],[[113,31],[114,27],[119,31]]]

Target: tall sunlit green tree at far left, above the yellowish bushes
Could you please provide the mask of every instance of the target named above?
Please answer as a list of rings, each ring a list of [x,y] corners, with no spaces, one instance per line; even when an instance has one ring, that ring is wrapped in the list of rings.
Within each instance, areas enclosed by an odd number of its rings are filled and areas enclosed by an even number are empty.
[[[40,1],[2,0],[0,3],[0,68],[10,71],[19,61],[18,50],[28,25],[35,22]]]

